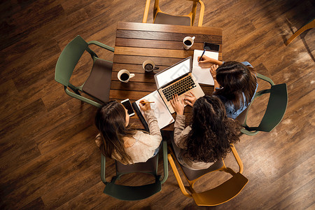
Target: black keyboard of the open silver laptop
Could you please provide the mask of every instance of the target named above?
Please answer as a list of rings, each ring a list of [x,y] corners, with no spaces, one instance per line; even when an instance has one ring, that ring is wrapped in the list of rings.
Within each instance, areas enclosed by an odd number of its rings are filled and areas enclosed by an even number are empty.
[[[194,87],[196,87],[196,84],[194,83],[193,78],[188,76],[183,80],[179,80],[177,83],[174,83],[174,85],[163,89],[162,92],[165,95],[167,102],[169,102],[174,94],[181,95]]]

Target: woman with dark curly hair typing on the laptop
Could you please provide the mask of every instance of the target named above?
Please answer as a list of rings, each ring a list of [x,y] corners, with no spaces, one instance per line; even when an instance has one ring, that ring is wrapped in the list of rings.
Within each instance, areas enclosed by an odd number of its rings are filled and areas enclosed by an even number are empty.
[[[171,104],[176,111],[174,142],[177,160],[193,170],[207,169],[231,151],[239,141],[239,125],[228,118],[225,106],[216,96],[200,97],[193,105],[193,118],[186,127],[183,99],[175,95]]]

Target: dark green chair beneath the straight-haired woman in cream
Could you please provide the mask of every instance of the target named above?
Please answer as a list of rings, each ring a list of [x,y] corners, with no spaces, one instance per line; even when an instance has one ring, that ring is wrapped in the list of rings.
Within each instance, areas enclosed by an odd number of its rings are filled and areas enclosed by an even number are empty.
[[[162,152],[163,152],[163,165],[164,165],[164,176],[160,179],[158,175],[158,154],[153,158],[150,158],[147,162],[139,162],[133,165],[123,165],[116,161],[116,176],[113,176],[111,182],[106,181],[105,176],[105,162],[106,158],[102,155],[101,165],[101,179],[106,185],[103,193],[115,197],[119,200],[143,200],[147,197],[151,197],[155,193],[161,191],[162,183],[165,183],[168,176],[168,162],[167,162],[167,141],[162,141]],[[116,184],[116,180],[123,174],[130,173],[148,173],[155,176],[155,183],[147,184],[144,186],[121,186]]]

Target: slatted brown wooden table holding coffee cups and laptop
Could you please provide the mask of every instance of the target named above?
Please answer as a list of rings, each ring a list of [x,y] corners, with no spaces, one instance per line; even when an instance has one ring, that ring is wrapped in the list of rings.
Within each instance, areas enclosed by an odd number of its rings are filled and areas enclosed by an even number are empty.
[[[195,36],[195,43],[190,50],[183,49],[183,38]],[[222,29],[211,27],[188,27],[178,25],[158,25],[150,23],[118,22],[110,98],[119,102],[130,99],[135,102],[157,89],[154,73],[146,73],[142,63],[151,59],[159,70],[166,69],[182,59],[193,56],[193,50],[202,50],[204,41],[221,45],[219,59],[222,59]],[[120,69],[134,73],[129,83],[122,83],[117,78]],[[201,85],[205,94],[211,94],[212,85]],[[185,114],[190,120],[191,107],[186,106]],[[175,114],[174,114],[175,117]],[[130,118],[130,123],[137,129],[143,129],[137,115]],[[173,130],[174,123],[163,130]]]

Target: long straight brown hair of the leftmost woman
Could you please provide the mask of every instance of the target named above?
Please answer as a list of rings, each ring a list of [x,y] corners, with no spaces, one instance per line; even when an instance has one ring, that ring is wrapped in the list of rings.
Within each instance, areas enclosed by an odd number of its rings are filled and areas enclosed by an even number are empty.
[[[125,127],[125,123],[125,109],[116,101],[102,106],[95,116],[95,125],[102,136],[100,151],[107,158],[115,158],[123,164],[130,164],[133,162],[125,152],[123,137],[132,137],[135,131]]]

